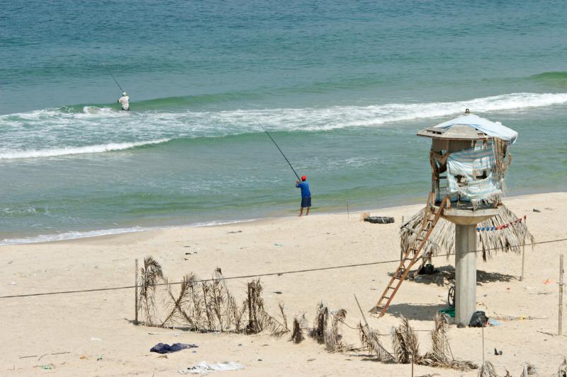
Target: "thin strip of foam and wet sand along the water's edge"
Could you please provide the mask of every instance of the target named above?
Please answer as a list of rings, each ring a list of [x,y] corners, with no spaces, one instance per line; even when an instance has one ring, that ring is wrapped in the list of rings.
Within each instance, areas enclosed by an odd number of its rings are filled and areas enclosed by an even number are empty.
[[[527,194],[514,195],[510,197],[505,197],[505,199],[521,199],[522,197],[527,197],[531,195],[540,194],[561,194],[561,191],[550,191],[550,192],[530,192]],[[416,198],[414,198],[416,199]],[[411,202],[411,200],[408,200]],[[413,205],[418,205],[421,203],[410,203],[410,204],[396,204],[388,207],[378,207],[373,209],[360,209],[356,206],[351,212],[352,214],[361,214],[366,211],[383,211],[383,210],[396,210],[401,207],[408,207]],[[425,205],[425,203],[423,204]],[[323,211],[320,213],[311,214],[310,216],[322,216],[322,215],[339,215],[347,214],[347,211]],[[382,215],[386,216],[386,215]],[[22,238],[3,238],[0,240],[0,247],[11,246],[11,245],[29,245],[29,244],[45,244],[45,243],[63,243],[71,240],[82,240],[91,238],[110,238],[120,235],[127,235],[133,233],[147,233],[147,232],[157,232],[166,231],[168,229],[185,229],[185,228],[206,228],[206,227],[217,227],[217,226],[230,226],[235,224],[261,224],[263,221],[270,221],[274,219],[286,219],[293,218],[296,215],[281,215],[281,216],[268,216],[259,217],[253,219],[237,219],[232,221],[206,221],[206,222],[196,222],[193,224],[181,224],[181,225],[168,225],[168,226],[133,226],[130,228],[106,228],[106,229],[95,229],[91,231],[67,231],[63,233],[52,233],[52,234],[40,234],[38,236],[29,236]],[[408,218],[409,219],[409,218]]]

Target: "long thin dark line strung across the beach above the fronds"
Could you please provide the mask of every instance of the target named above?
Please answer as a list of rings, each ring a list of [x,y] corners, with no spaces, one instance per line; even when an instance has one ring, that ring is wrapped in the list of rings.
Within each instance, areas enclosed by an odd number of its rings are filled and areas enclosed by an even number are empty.
[[[567,238],[557,238],[554,240],[545,240],[545,241],[540,241],[540,242],[534,242],[534,243],[525,243],[522,245],[525,246],[530,246],[530,245],[541,245],[544,243],[555,243],[555,242],[563,242],[563,241],[567,241]],[[510,245],[508,246],[508,248],[519,248],[522,245]],[[500,247],[500,248],[491,248],[490,250],[498,250],[498,249],[503,249],[505,247]],[[471,250],[471,251],[466,251],[466,252],[461,252],[460,254],[468,254],[468,253],[481,253],[483,250]],[[438,255],[430,255],[427,258],[433,258],[433,257],[448,257],[449,255],[456,255],[456,253],[447,253],[447,254],[438,254]],[[421,259],[424,259],[426,256],[422,256]],[[410,260],[408,258],[405,258],[405,260]],[[265,274],[249,274],[249,275],[240,275],[240,276],[235,276],[235,277],[224,277],[223,279],[225,280],[235,280],[235,279],[249,279],[251,277],[269,277],[269,276],[281,276],[284,274],[299,274],[301,272],[315,272],[315,271],[325,271],[325,270],[329,270],[329,269],[342,269],[342,268],[351,268],[351,267],[364,267],[364,266],[372,266],[372,265],[385,265],[388,263],[400,263],[399,259],[395,259],[395,260],[380,260],[377,262],[367,262],[367,263],[354,263],[352,265],[339,265],[339,266],[330,266],[330,267],[316,267],[316,268],[308,268],[308,269],[296,269],[296,270],[291,270],[291,271],[282,271],[282,272],[268,272]],[[201,279],[201,280],[196,280],[196,283],[203,283],[203,282],[213,282],[215,280],[218,279]],[[173,283],[159,283],[159,284],[155,284],[155,286],[162,286],[162,285],[175,285],[175,284],[182,284],[183,282],[173,282]],[[99,291],[118,291],[120,289],[133,289],[136,288],[137,286],[135,285],[130,285],[130,286],[113,286],[110,288],[94,288],[94,289],[78,289],[78,290],[74,290],[74,291],[55,291],[55,292],[43,292],[43,293],[38,293],[38,294],[15,294],[15,295],[10,295],[10,296],[0,296],[1,298],[18,298],[18,297],[32,297],[32,296],[49,296],[49,295],[53,295],[53,294],[78,294],[78,293],[85,293],[85,292],[99,292]]]

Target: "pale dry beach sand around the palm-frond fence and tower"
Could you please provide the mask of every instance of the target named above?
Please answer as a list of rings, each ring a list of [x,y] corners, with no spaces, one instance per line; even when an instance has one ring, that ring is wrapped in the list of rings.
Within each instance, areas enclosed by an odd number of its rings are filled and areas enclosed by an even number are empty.
[[[512,197],[505,204],[518,216],[527,214],[529,229],[537,241],[566,238],[567,193]],[[395,260],[400,255],[398,226],[401,216],[415,214],[413,205],[371,211],[394,216],[395,224],[369,224],[359,214],[325,214],[303,218],[286,217],[228,226],[172,228],[119,236],[84,238],[56,243],[10,245],[0,249],[0,296],[70,289],[129,286],[134,281],[134,260],[152,255],[164,267],[170,281],[187,272],[210,277],[222,267],[225,277],[285,272],[296,269]],[[536,213],[532,209],[541,212]],[[232,233],[236,232],[236,233]],[[191,255],[186,255],[191,253]],[[537,366],[542,376],[557,371],[567,354],[567,337],[558,330],[558,260],[567,253],[567,242],[537,245],[526,250],[527,274],[520,282],[522,257],[498,253],[488,262],[478,260],[478,309],[489,317],[532,317],[531,320],[499,320],[485,328],[484,357],[499,374],[504,368],[520,375],[522,364]],[[444,274],[451,271],[454,257],[434,260]],[[262,277],[264,301],[276,315],[279,301],[285,303],[291,322],[306,313],[310,322],[318,301],[330,308],[345,308],[347,324],[354,327],[361,315],[353,294],[365,310],[371,308],[388,282],[395,263],[330,269],[319,272]],[[544,284],[546,279],[551,284]],[[228,281],[239,301],[249,279]],[[416,330],[430,330],[434,313],[446,307],[447,285],[433,275],[404,282],[388,314],[368,317],[372,327],[388,333],[410,319]],[[274,292],[281,291],[281,294]],[[565,300],[567,301],[567,299]],[[196,334],[130,323],[134,318],[134,291],[100,291],[80,294],[3,298],[0,300],[0,375],[60,376],[180,376],[178,371],[200,361],[235,361],[242,371],[214,372],[220,376],[410,376],[409,365],[385,365],[364,353],[329,354],[311,339],[289,342],[269,335]],[[541,319],[539,319],[541,318]],[[566,321],[567,327],[567,321]],[[150,335],[157,332],[158,335]],[[342,327],[344,340],[359,344],[355,330]],[[567,331],[566,331],[567,332]],[[430,335],[420,331],[420,352],[430,348]],[[481,329],[458,329],[451,325],[449,339],[456,359],[481,364]],[[382,338],[391,349],[389,337]],[[196,343],[191,349],[169,354],[151,353],[158,342]],[[502,351],[494,355],[494,349]],[[69,352],[56,354],[57,352]],[[22,356],[31,356],[22,358]],[[45,355],[45,356],[43,356]],[[81,356],[86,358],[81,359]],[[101,360],[97,361],[101,356]],[[39,366],[52,364],[54,369]],[[450,369],[415,367],[415,376],[476,376]]]

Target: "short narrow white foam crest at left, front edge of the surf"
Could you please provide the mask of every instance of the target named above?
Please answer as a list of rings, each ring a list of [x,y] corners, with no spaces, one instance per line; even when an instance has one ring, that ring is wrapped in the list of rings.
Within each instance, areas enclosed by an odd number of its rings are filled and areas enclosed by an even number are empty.
[[[151,144],[161,144],[170,139],[159,139],[150,141],[140,141],[136,143],[109,143],[103,145],[77,146],[69,148],[40,149],[37,151],[13,151],[0,153],[0,160],[14,158],[38,158],[38,157],[57,157],[69,154],[101,153],[109,151],[123,151],[124,149],[134,148]]]

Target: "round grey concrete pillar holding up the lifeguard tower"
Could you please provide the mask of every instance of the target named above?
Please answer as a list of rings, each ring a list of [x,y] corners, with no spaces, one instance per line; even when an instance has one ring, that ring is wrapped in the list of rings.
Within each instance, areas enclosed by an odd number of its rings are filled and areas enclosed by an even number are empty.
[[[468,325],[476,311],[476,224],[455,224],[455,321]],[[463,253],[465,252],[465,253]]]

